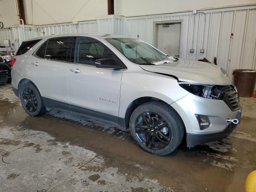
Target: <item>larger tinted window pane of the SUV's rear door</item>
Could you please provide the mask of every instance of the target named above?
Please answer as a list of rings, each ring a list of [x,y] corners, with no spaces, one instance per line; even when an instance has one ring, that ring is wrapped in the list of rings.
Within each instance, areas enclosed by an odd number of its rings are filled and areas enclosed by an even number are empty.
[[[66,61],[69,43],[70,38],[49,39],[46,48],[45,58],[58,61]]]

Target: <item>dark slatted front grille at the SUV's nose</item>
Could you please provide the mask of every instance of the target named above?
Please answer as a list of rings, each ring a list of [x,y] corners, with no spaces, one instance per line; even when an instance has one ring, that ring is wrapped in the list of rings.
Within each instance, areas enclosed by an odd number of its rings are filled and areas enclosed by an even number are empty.
[[[233,85],[220,86],[219,88],[224,93],[222,100],[228,105],[228,107],[232,111],[237,111],[242,108],[239,102],[239,97],[236,92],[236,88]]]

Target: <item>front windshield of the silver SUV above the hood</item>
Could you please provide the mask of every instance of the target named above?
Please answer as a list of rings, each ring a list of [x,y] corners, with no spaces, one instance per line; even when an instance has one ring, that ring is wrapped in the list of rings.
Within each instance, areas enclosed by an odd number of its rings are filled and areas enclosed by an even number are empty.
[[[139,39],[106,38],[106,40],[136,64],[152,64],[152,62],[168,59],[166,54]]]

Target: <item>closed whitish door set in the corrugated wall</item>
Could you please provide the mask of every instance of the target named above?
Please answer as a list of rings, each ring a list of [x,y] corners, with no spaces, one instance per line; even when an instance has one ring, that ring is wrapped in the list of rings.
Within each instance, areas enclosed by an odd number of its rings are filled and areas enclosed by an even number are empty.
[[[156,25],[156,47],[169,56],[180,56],[181,23]]]

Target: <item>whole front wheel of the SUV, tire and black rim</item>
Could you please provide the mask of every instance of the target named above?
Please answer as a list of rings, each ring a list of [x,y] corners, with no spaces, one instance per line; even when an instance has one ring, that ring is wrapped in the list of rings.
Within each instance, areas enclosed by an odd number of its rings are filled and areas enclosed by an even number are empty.
[[[163,156],[179,146],[184,135],[184,125],[173,108],[152,101],[138,106],[132,112],[130,132],[142,149]]]

